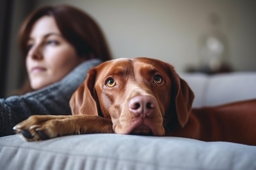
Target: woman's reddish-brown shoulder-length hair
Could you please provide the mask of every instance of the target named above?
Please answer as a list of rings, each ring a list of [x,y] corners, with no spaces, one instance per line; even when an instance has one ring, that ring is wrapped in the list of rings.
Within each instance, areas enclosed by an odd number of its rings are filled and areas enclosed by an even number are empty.
[[[27,41],[34,23],[45,15],[52,16],[61,31],[63,38],[67,40],[74,48],[79,57],[85,57],[86,60],[99,58],[103,62],[111,60],[110,50],[104,38],[104,35],[98,24],[84,11],[69,5],[44,6],[33,11],[23,23],[18,44],[25,58],[29,49]],[[18,95],[32,91],[29,82],[25,82]]]

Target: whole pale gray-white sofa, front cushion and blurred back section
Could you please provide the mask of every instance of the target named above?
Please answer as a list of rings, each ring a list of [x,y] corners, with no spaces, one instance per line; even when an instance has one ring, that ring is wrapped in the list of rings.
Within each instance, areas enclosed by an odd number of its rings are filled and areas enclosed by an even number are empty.
[[[195,93],[194,108],[256,98],[255,72],[180,77]],[[117,134],[27,142],[10,135],[0,137],[0,170],[256,170],[256,146]]]

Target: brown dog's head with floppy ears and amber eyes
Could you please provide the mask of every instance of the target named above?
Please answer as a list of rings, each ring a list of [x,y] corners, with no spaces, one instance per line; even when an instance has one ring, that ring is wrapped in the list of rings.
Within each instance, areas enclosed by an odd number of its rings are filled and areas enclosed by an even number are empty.
[[[193,92],[173,66],[150,58],[116,59],[92,68],[70,100],[72,113],[111,119],[120,134],[165,135],[188,121]]]

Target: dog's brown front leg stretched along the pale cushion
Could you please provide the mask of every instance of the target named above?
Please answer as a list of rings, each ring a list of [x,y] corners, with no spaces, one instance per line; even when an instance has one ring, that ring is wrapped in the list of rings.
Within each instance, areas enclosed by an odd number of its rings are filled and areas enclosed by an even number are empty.
[[[65,135],[114,133],[112,121],[96,115],[33,115],[13,128],[27,141]]]

